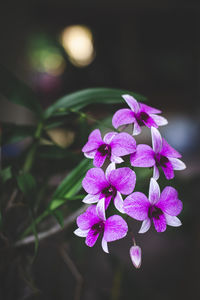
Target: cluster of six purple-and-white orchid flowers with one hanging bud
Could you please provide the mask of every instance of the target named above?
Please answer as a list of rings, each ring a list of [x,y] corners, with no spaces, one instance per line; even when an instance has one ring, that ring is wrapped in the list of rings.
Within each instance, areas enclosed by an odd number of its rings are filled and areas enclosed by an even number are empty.
[[[107,209],[113,202],[117,211],[131,218],[142,221],[139,233],[145,233],[153,222],[157,232],[166,230],[167,225],[180,226],[177,218],[182,210],[182,202],[178,192],[166,186],[162,192],[157,182],[159,169],[167,180],[174,177],[174,170],[185,169],[180,160],[181,155],[173,149],[161,136],[158,127],[167,124],[160,116],[160,110],[137,102],[130,95],[123,95],[129,108],[118,110],[112,119],[115,129],[133,125],[133,135],[141,132],[142,126],[151,130],[152,147],[136,145],[134,137],[119,130],[109,132],[104,138],[99,129],[94,130],[82,151],[87,158],[93,159],[95,168],[90,169],[83,179],[82,186],[87,192],[84,203],[91,204],[77,218],[78,228],[74,233],[85,237],[86,245],[94,246],[99,235],[102,236],[102,248],[108,253],[108,242],[119,240],[128,232],[127,222],[120,215],[112,215],[106,219]],[[142,192],[133,192],[136,174],[132,168],[118,167],[123,163],[123,156],[130,156],[132,167],[152,167],[148,198]],[[109,162],[105,169],[105,163]],[[102,168],[101,168],[102,167]],[[123,199],[123,196],[127,196]],[[94,205],[95,204],[95,205]],[[127,218],[126,218],[127,219]],[[136,245],[130,248],[130,257],[136,268],[141,265],[141,248]]]

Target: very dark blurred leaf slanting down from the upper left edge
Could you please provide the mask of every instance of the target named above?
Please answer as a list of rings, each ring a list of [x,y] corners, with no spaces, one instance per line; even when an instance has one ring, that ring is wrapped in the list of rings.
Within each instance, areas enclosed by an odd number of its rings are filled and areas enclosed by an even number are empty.
[[[0,94],[7,100],[30,109],[38,118],[42,118],[43,110],[33,90],[1,65]]]

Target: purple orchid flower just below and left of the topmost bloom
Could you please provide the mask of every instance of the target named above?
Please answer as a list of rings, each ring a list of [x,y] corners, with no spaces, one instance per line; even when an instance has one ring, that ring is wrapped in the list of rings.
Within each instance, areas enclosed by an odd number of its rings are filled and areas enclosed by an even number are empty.
[[[123,162],[121,156],[131,154],[135,150],[136,142],[130,134],[109,132],[102,140],[99,129],[91,132],[88,142],[82,149],[86,157],[94,158],[95,167],[101,167],[106,158],[111,162],[121,163]]]

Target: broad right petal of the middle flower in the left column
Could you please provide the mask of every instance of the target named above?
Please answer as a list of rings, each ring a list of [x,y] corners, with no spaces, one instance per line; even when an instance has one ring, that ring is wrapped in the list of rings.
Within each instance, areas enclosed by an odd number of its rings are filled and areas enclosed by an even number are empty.
[[[109,181],[117,191],[123,195],[128,195],[135,188],[136,175],[130,168],[119,168],[111,171]]]

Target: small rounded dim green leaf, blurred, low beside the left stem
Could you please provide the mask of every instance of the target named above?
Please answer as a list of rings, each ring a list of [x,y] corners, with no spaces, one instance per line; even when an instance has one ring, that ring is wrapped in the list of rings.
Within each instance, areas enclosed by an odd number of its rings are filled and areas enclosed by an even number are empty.
[[[36,189],[35,178],[30,173],[17,176],[17,184],[25,196],[29,196]]]

